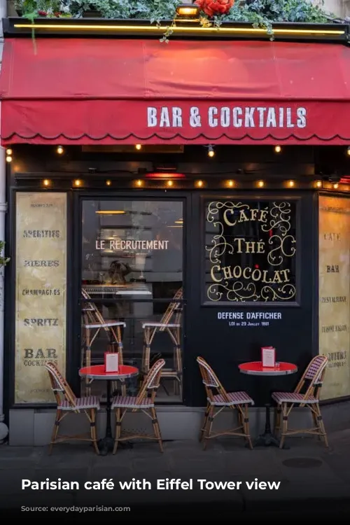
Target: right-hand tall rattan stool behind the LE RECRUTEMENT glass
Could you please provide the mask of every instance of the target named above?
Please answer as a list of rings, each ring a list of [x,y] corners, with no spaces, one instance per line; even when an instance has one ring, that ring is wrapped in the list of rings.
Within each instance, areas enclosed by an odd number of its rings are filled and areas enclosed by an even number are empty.
[[[173,344],[173,365],[162,370],[162,377],[174,379],[175,393],[182,393],[182,356],[181,356],[181,316],[182,304],[178,302],[183,297],[182,287],[175,293],[172,302],[167,307],[160,321],[142,324],[144,330],[144,353],[142,356],[141,372],[148,374],[151,362],[151,344],[158,332],[167,332]]]

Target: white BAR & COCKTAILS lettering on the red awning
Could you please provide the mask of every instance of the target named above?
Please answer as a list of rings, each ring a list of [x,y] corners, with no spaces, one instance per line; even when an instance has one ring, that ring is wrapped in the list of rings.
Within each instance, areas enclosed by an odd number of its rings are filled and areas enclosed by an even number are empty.
[[[148,128],[262,128],[291,130],[307,127],[307,109],[281,106],[148,106]]]

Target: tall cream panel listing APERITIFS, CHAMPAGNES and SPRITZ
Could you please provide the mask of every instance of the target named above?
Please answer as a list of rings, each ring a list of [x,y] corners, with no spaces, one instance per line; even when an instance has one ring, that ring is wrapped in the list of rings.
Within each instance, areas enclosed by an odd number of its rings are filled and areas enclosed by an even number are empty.
[[[54,401],[45,363],[66,368],[66,193],[17,193],[15,403]]]

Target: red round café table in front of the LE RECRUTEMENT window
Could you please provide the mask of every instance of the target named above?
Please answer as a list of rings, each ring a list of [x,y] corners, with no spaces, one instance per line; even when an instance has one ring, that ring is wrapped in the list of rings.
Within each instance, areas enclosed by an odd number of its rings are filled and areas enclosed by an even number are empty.
[[[114,440],[112,436],[111,427],[111,381],[118,381],[120,379],[129,379],[139,374],[139,369],[130,365],[119,365],[118,372],[105,372],[104,365],[92,365],[80,368],[80,377],[87,377],[87,379],[103,380],[107,384],[106,392],[106,435],[99,440],[99,451],[102,456],[106,456],[109,451],[113,450]]]

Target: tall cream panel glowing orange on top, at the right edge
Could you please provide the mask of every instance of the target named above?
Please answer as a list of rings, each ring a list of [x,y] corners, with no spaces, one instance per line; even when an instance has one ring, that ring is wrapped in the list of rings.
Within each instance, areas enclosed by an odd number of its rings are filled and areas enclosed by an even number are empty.
[[[350,395],[350,199],[319,197],[319,353],[322,399]]]

